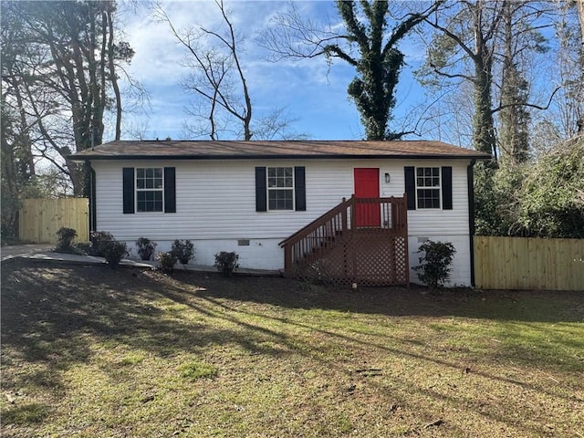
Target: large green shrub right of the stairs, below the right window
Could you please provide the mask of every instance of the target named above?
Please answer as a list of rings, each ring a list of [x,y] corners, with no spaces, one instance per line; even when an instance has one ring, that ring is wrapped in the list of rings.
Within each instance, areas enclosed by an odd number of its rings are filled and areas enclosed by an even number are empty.
[[[433,242],[428,240],[420,245],[418,254],[422,254],[418,260],[420,266],[413,266],[418,278],[434,290],[443,287],[444,282],[450,276],[450,266],[453,263],[454,245],[450,242]]]

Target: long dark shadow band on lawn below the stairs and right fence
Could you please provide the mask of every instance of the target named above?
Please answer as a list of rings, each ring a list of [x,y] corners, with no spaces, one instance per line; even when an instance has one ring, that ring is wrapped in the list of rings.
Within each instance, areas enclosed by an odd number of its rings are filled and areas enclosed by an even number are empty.
[[[426,287],[330,287],[290,278],[204,276],[177,272],[183,285],[203,287],[197,295],[282,308],[320,308],[388,317],[461,317],[521,322],[584,322],[584,292],[508,291]]]

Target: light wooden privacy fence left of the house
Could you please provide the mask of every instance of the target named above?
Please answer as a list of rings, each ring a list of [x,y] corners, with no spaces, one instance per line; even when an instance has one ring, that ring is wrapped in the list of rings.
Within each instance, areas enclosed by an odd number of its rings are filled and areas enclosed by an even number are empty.
[[[21,240],[56,244],[57,230],[63,226],[77,231],[78,242],[89,242],[89,201],[87,198],[25,199],[18,213]]]

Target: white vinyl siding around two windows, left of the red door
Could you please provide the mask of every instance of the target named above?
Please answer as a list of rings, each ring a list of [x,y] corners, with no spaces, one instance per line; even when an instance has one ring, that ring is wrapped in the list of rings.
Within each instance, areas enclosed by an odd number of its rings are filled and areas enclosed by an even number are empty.
[[[150,239],[280,238],[295,233],[352,193],[352,166],[325,162],[291,162],[306,166],[307,211],[255,212],[253,161],[163,162],[176,168],[176,214],[122,214],[121,168],[148,162],[93,162],[96,170],[97,224],[121,240],[137,233]],[[278,164],[280,166],[278,166]],[[151,164],[150,164],[151,165]],[[281,162],[261,162],[281,167]],[[349,178],[342,177],[348,172]],[[340,173],[340,174],[339,174]],[[146,219],[151,216],[151,221]],[[140,235],[139,235],[140,236]],[[138,237],[139,237],[138,236]]]

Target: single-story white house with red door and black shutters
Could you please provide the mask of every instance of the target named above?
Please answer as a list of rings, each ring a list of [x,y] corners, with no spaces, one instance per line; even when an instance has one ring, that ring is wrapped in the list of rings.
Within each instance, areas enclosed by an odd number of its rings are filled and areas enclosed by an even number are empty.
[[[405,281],[415,282],[418,247],[430,239],[456,248],[451,285],[473,283],[473,165],[490,159],[482,152],[441,141],[111,141],[70,158],[91,170],[91,230],[134,252],[139,237],[158,251],[190,239],[196,264],[235,251],[242,267],[290,270],[328,256],[355,276],[401,254]],[[350,244],[351,230],[405,238]]]

